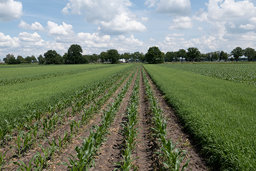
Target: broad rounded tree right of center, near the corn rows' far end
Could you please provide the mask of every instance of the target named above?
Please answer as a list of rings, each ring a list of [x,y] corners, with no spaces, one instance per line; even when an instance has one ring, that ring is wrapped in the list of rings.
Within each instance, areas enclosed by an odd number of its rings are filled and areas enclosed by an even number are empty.
[[[164,53],[157,46],[149,47],[145,58],[148,63],[164,63]]]

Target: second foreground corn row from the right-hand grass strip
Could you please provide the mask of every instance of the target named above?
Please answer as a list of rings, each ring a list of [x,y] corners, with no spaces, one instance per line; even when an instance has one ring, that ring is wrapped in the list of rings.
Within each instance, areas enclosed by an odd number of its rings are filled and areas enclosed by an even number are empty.
[[[117,166],[120,166],[122,170],[129,170],[132,166],[132,161],[136,158],[132,159],[132,152],[136,148],[136,141],[138,135],[139,135],[139,128],[137,126],[138,124],[138,107],[140,102],[139,97],[140,92],[140,74],[138,72],[137,77],[135,79],[135,84],[133,86],[132,95],[130,97],[129,106],[127,107],[127,113],[126,117],[128,121],[125,121],[124,124],[122,124],[124,130],[122,134],[125,136],[125,149],[123,150],[123,161],[120,161],[119,163],[114,163]],[[118,168],[115,168],[116,170]],[[135,167],[134,170],[137,168]]]

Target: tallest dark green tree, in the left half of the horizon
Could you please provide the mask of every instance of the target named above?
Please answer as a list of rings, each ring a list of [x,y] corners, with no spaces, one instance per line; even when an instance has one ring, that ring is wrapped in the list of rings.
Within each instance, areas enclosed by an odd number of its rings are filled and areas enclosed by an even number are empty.
[[[81,64],[82,59],[82,47],[78,44],[73,44],[67,50],[67,56],[64,61],[66,64]]]

